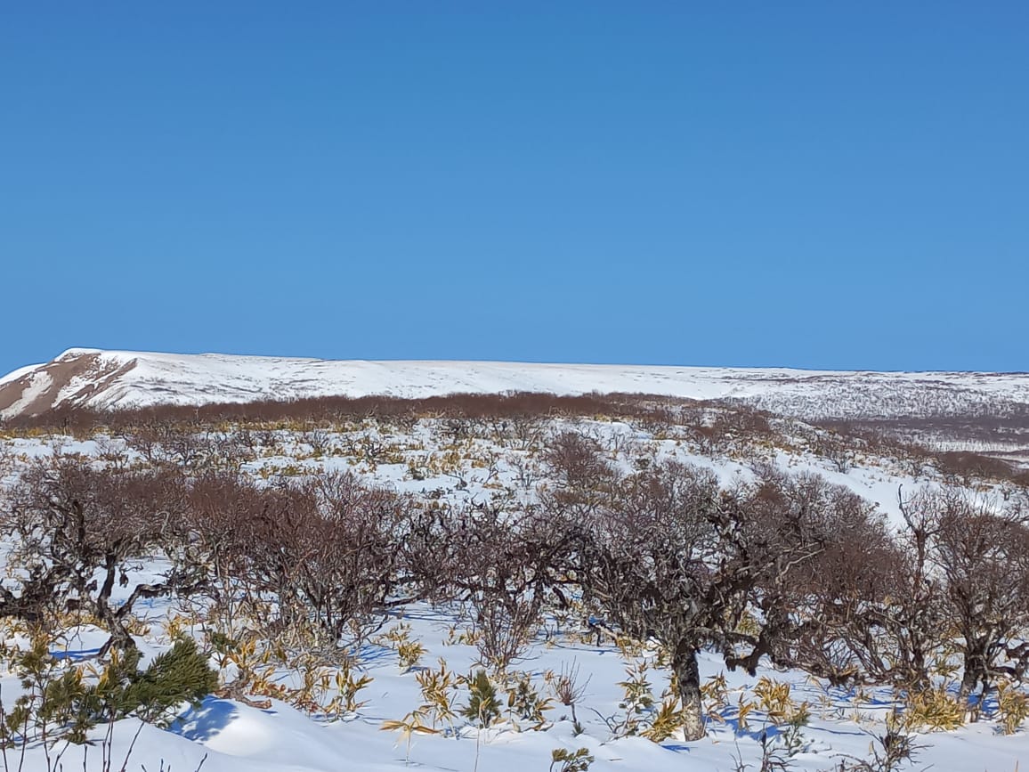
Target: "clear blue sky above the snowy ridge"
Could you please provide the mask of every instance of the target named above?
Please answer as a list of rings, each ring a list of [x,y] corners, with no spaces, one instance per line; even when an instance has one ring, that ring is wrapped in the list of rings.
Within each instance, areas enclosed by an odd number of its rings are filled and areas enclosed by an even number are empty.
[[[7,2],[0,371],[1029,371],[1029,3]]]

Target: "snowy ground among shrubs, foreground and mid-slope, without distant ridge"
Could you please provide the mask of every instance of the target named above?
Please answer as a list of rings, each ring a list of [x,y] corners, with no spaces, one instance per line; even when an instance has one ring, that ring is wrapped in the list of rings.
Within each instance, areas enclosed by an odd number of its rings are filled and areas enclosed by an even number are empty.
[[[422,500],[428,498],[455,512],[485,503],[511,507],[517,506],[513,503],[517,501],[537,502],[537,491],[548,482],[553,483],[541,460],[542,446],[519,448],[513,435],[498,434],[486,423],[482,424],[481,434],[474,433],[467,445],[462,445],[464,450],[457,454],[456,460],[441,462],[450,454],[443,449],[456,447],[452,444],[448,423],[443,419],[428,418],[401,428],[371,420],[359,427],[332,429],[320,438],[315,436],[317,432],[307,431],[254,432],[251,442],[255,445],[241,470],[255,481],[276,485],[304,475],[347,471],[357,475],[368,485]],[[739,447],[730,455],[704,451],[690,441],[689,432],[675,428],[658,437],[643,426],[629,422],[589,419],[573,422],[561,418],[546,421],[546,436],[568,430],[594,438],[603,449],[605,458],[627,473],[639,468],[640,459],[648,459],[674,460],[709,469],[726,488],[753,480],[754,463],[777,468],[783,473],[818,475],[876,503],[897,527],[902,523],[898,503],[901,491],[910,495],[923,486],[932,488],[945,484],[931,466],[912,473],[909,464],[901,459],[871,453],[855,455],[853,463],[848,464],[850,468],[843,471],[836,461],[816,453],[785,450],[765,442],[755,445],[756,456],[741,454]],[[323,443],[325,452],[314,452],[312,443],[316,438]],[[383,463],[368,463],[367,449],[376,443],[381,447],[388,445],[393,457],[384,457]],[[213,443],[210,447],[225,446]],[[125,468],[147,463],[126,438],[106,435],[5,438],[0,434],[0,458],[4,451],[7,451],[12,469],[55,453],[81,454],[81,457],[101,462],[104,457],[120,457],[117,463]],[[207,464],[198,464],[198,468],[207,468]],[[0,533],[0,572],[10,571],[6,563],[9,548],[10,535]],[[125,600],[133,592],[136,581],[159,583],[165,578],[167,567],[162,560],[141,561],[132,570],[132,581],[123,587],[119,583],[113,589],[114,598]],[[210,618],[214,622],[208,626],[209,623],[197,616],[198,611],[183,611],[189,607],[202,606],[200,603],[183,606],[161,597],[145,606],[135,629],[138,631],[137,643],[147,660],[169,651],[174,638],[184,631],[210,650],[205,635],[217,630],[213,627],[217,618]],[[74,618],[68,616],[67,619]],[[420,676],[429,670],[435,672],[436,667],[443,665],[452,674],[473,673],[482,667],[472,634],[474,619],[460,603],[441,603],[438,607],[412,603],[392,609],[383,632],[405,629],[406,637],[390,640],[376,636],[357,651],[355,677],[368,680],[363,689],[358,688],[359,694],[355,692],[354,700],[359,704],[353,710],[344,710],[339,705],[323,708],[330,705],[336,695],[336,688],[332,686],[314,687],[307,697],[299,691],[290,696],[290,692],[300,690],[313,673],[324,673],[325,677],[331,673],[334,678],[340,671],[331,665],[333,660],[327,660],[326,668],[321,669],[311,664],[313,659],[297,654],[290,654],[286,662],[255,657],[253,661],[265,663],[259,666],[264,686],[257,692],[255,681],[254,691],[247,692],[248,701],[232,699],[225,693],[209,696],[200,706],[183,712],[167,731],[127,718],[111,726],[109,733],[105,725],[92,730],[92,745],[66,746],[57,742],[47,748],[42,743],[32,743],[27,747],[25,763],[16,766],[26,770],[58,769],[60,767],[51,760],[63,752],[64,769],[88,772],[122,768],[104,763],[110,759],[123,764],[126,769],[171,769],[174,772],[201,769],[203,772],[403,772],[411,769],[422,772],[542,772],[549,769],[554,772],[586,768],[551,764],[554,750],[574,752],[584,748],[595,759],[589,765],[589,772],[726,772],[741,769],[754,772],[759,769],[782,772],[846,769],[857,772],[886,769],[885,765],[873,761],[873,755],[883,752],[877,738],[888,737],[888,722],[896,720],[893,710],[902,705],[898,693],[882,685],[863,689],[832,687],[801,670],[775,668],[767,658],[762,658],[753,675],[742,668],[730,671],[724,659],[710,651],[703,652],[699,659],[702,682],[711,688],[723,679],[723,686],[720,696],[719,690],[712,689],[712,696],[706,701],[707,736],[686,742],[681,733],[675,732],[660,743],[638,733],[626,736],[628,730],[619,727],[630,715],[634,720],[650,715],[649,712],[630,712],[626,694],[631,682],[627,678],[632,679],[633,672],[642,677],[644,671],[639,668],[645,664],[643,689],[652,697],[659,697],[669,687],[667,663],[661,664],[659,650],[652,644],[633,653],[619,648],[607,637],[595,638],[595,633],[587,627],[587,620],[575,613],[564,613],[560,618],[547,613],[545,624],[527,642],[511,670],[519,678],[528,678],[526,682],[543,698],[553,697],[548,677],[569,675],[579,689],[575,699],[577,715],[574,706],[551,699],[548,707],[543,708],[545,721],[538,725],[519,717],[511,708],[506,709],[503,721],[488,729],[477,730],[471,720],[461,714],[438,720],[437,725],[435,714],[428,708],[419,707],[426,701]],[[0,625],[0,643],[7,642],[11,646],[8,651],[13,650],[11,641],[27,644],[24,636],[14,638],[13,634],[7,634],[11,637],[5,641],[5,631]],[[79,666],[88,673],[83,661],[92,662],[107,637],[99,628],[77,626],[62,630],[50,651],[64,667]],[[424,646],[416,666],[401,665],[396,651],[401,639]],[[287,640],[290,638],[284,636],[282,639]],[[273,644],[276,648],[291,645],[282,641],[258,638],[253,645],[260,646],[258,652]],[[210,660],[220,669],[222,682],[232,682],[238,677],[237,663],[240,661],[214,654]],[[629,667],[636,670],[627,670]],[[12,695],[21,694],[24,689],[16,670],[0,657],[0,697],[5,697],[8,705],[14,699]],[[955,678],[951,683],[953,692],[957,689],[957,676],[952,676]],[[757,694],[762,683],[766,688],[770,685],[776,689],[787,688],[790,705],[803,706],[807,717],[790,725],[783,715],[777,717],[762,708]],[[279,697],[287,701],[263,702],[271,689],[283,690]],[[1016,694],[1024,693],[1024,686],[1017,689],[1020,691]],[[447,694],[455,711],[470,703],[469,690],[460,682]],[[504,694],[501,690],[501,700]],[[657,705],[662,703],[663,700],[658,699]],[[898,772],[928,768],[953,772],[1013,772],[1019,769],[1020,763],[1025,768],[1024,762],[1029,758],[1029,731],[1019,728],[1004,735],[1004,714],[999,711],[998,702],[991,697],[987,705],[987,712],[978,723],[949,732],[925,732],[914,736],[916,763],[897,763],[890,768]],[[411,721],[413,710],[423,711],[424,721],[433,725],[431,731],[410,735],[402,732],[397,722]],[[391,727],[392,731],[383,731]],[[108,745],[112,749],[107,749]],[[9,749],[8,758],[20,759],[20,750]],[[12,763],[10,769],[14,767]],[[0,765],[0,769],[6,770],[6,767]]]

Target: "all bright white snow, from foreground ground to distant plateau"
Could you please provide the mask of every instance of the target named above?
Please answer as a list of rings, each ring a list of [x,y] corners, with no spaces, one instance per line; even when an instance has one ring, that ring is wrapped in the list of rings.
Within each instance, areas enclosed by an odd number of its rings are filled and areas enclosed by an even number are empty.
[[[96,352],[93,352],[96,353]],[[513,363],[490,362],[324,362],[321,360],[264,359],[254,357],[223,357],[200,355],[180,357],[176,355],[133,354],[129,352],[107,352],[102,357],[114,363],[123,363],[130,358],[138,358],[140,366],[133,371],[131,384],[123,385],[119,398],[156,397],[155,389],[165,387],[174,380],[175,388],[188,398],[201,398],[212,390],[217,395],[212,398],[224,399],[225,393],[260,393],[270,384],[277,384],[283,393],[298,394],[304,388],[324,388],[326,382],[347,383],[358,393],[382,393],[386,389],[423,389],[425,393],[442,393],[453,383],[448,379],[461,377],[460,385],[453,391],[480,389],[506,390],[502,386],[526,389],[526,384],[553,385],[561,382],[584,387],[590,379],[602,384],[599,390],[612,391],[653,391],[652,386],[627,384],[663,384],[672,389],[696,389],[695,394],[704,392],[711,395],[718,389],[747,388],[758,390],[769,387],[771,378],[764,371],[724,371],[714,369],[646,369],[591,365],[519,365]],[[669,371],[668,374],[665,371]],[[789,371],[774,371],[784,373]],[[657,378],[657,375],[666,375]],[[839,374],[838,374],[839,375]],[[846,374],[844,374],[846,375]],[[865,374],[866,375],[866,374]],[[879,374],[884,378],[911,378],[901,374]],[[301,378],[303,376],[303,378]],[[955,376],[962,384],[971,376]],[[1003,378],[1003,377],[998,377]],[[1018,377],[1013,377],[1018,381]],[[635,380],[634,380],[635,379]],[[649,379],[649,380],[647,380]],[[962,380],[964,379],[964,380]],[[988,384],[994,382],[987,378]],[[42,386],[33,381],[35,389]],[[41,383],[41,381],[40,381]],[[1016,383],[1018,386],[1021,382]],[[193,389],[190,391],[189,389]],[[583,390],[586,390],[583,388]],[[592,390],[592,388],[590,389]],[[392,392],[387,392],[392,393]],[[409,392],[404,392],[407,395]],[[574,392],[563,392],[574,393]],[[719,392],[720,393],[720,392]],[[110,392],[108,392],[110,394]],[[241,397],[242,398],[242,397]],[[548,431],[569,428],[560,420],[553,421]],[[704,465],[713,469],[726,485],[740,478],[752,476],[749,458],[732,454],[702,455],[698,448],[679,438],[655,438],[639,427],[625,422],[583,420],[574,422],[577,430],[589,432],[611,450],[612,459],[623,468],[631,468],[635,458],[652,453],[658,457],[672,457],[678,460]],[[410,432],[383,436],[386,427],[366,426],[353,432],[357,435],[375,435],[401,449],[405,459],[424,459],[427,454],[438,452],[439,433],[434,433],[430,420],[423,420]],[[468,457],[461,462],[461,471],[466,482],[464,487],[456,486],[456,481],[448,475],[413,479],[403,463],[381,463],[368,466],[345,455],[327,455],[311,458],[303,435],[279,434],[283,447],[275,453],[258,454],[246,464],[246,470],[256,478],[261,472],[277,465],[296,464],[301,468],[316,471],[319,468],[350,469],[365,477],[369,482],[385,485],[394,490],[418,494],[419,492],[445,489],[442,499],[455,504],[482,499],[493,495],[489,487],[490,469],[475,466]],[[328,442],[334,446],[344,437],[331,434]],[[11,438],[0,441],[17,458],[29,460],[52,452],[55,446],[67,453],[97,455],[105,444],[114,444],[112,438],[72,441],[59,438]],[[617,449],[617,450],[615,450]],[[526,459],[522,451],[510,447],[493,446],[476,440],[469,447],[469,455],[483,458],[493,454],[496,459],[494,483],[518,488],[518,478],[512,459]],[[299,460],[301,459],[303,460]],[[801,451],[786,451],[769,448],[765,460],[792,472],[813,471],[823,475],[835,483],[846,485],[861,496],[879,503],[880,508],[896,524],[899,521],[896,497],[897,490],[908,492],[925,484],[938,484],[931,478],[931,469],[915,478],[904,471],[898,463],[887,458],[861,457],[855,459],[847,472],[837,470],[827,459]],[[532,487],[518,488],[519,495],[531,500]],[[2,543],[0,534],[0,543]],[[2,567],[2,566],[0,566]],[[142,568],[143,576],[156,576],[162,566],[149,564]],[[119,590],[119,592],[123,592]],[[147,656],[152,656],[169,645],[162,621],[168,610],[159,603],[150,607],[152,626],[149,634],[143,636],[141,645]],[[477,658],[474,647],[448,640],[448,628],[458,621],[448,609],[431,608],[425,604],[414,604],[399,609],[396,622],[410,624],[412,639],[419,640],[427,653],[421,664],[435,667],[437,658],[446,659],[448,667],[457,673],[467,673]],[[555,623],[548,623],[554,626]],[[577,624],[577,623],[572,623]],[[799,671],[776,670],[766,664],[758,669],[757,676],[743,672],[726,672],[729,682],[728,706],[718,718],[712,718],[708,726],[708,736],[696,742],[683,742],[675,738],[655,744],[640,737],[613,739],[605,723],[605,717],[619,711],[618,702],[623,690],[618,681],[625,679],[627,661],[619,652],[606,641],[595,645],[595,641],[576,638],[576,629],[565,628],[563,635],[555,635],[549,640],[539,636],[523,659],[516,662],[516,669],[532,673],[533,682],[545,696],[543,673],[547,670],[580,669],[580,681],[589,679],[582,704],[577,707],[578,718],[584,732],[576,735],[569,711],[557,705],[547,711],[548,724],[542,731],[528,731],[510,724],[476,732],[465,722],[459,722],[456,734],[416,735],[411,744],[410,765],[406,743],[396,732],[382,731],[384,721],[399,720],[421,704],[416,675],[401,673],[397,667],[396,654],[381,645],[366,646],[360,657],[363,672],[375,680],[361,693],[367,704],[356,714],[343,720],[325,716],[311,716],[281,701],[262,709],[250,705],[215,697],[208,698],[196,710],[188,710],[168,731],[152,726],[141,727],[138,722],[123,721],[114,727],[112,748],[113,769],[120,769],[122,760],[128,759],[127,769],[150,772],[173,770],[193,772],[203,764],[203,772],[235,772],[254,770],[256,772],[338,772],[344,769],[398,771],[417,767],[432,772],[529,772],[548,769],[551,752],[555,748],[574,750],[584,747],[595,757],[591,772],[677,772],[689,769],[698,772],[732,772],[742,763],[749,770],[758,770],[761,753],[761,735],[767,733],[771,742],[777,742],[776,728],[767,716],[754,713],[750,726],[741,730],[737,714],[732,707],[741,697],[751,699],[752,688],[760,676],[767,676],[790,685],[795,701],[807,700],[811,706],[811,721],[803,728],[802,747],[787,759],[786,770],[837,769],[847,758],[866,759],[875,735],[884,731],[884,722],[891,706],[892,695],[888,690],[870,690],[866,700],[847,690],[830,689],[819,685]],[[203,631],[194,634],[201,636]],[[66,641],[60,652],[64,656],[76,657],[95,651],[105,638],[95,629],[82,628],[67,631]],[[3,643],[0,639],[0,643]],[[648,655],[649,657],[649,655]],[[702,678],[718,675],[724,670],[723,662],[717,656],[705,654],[701,658]],[[295,678],[295,673],[282,673],[283,682]],[[649,677],[652,691],[660,695],[667,686],[667,671],[654,668]],[[295,681],[294,681],[295,685]],[[0,695],[10,699],[16,693],[17,679],[11,673],[0,669]],[[458,707],[466,699],[462,693]],[[136,733],[139,733],[136,737]],[[93,735],[97,742],[103,740],[103,731]],[[961,772],[1014,772],[1018,764],[1026,768],[1029,760],[1029,732],[1020,729],[1012,736],[1003,736],[997,731],[997,724],[985,720],[968,725],[958,731],[924,734],[916,738],[924,747],[919,751],[917,763],[901,769],[921,770],[930,767],[938,772],[954,770]],[[60,750],[60,746],[57,748]],[[83,759],[83,753],[85,758]],[[11,769],[19,766],[15,757]],[[84,769],[86,772],[104,769],[98,747],[83,750],[78,746],[68,748],[62,759],[65,769]],[[2,768],[2,767],[0,767]],[[39,747],[29,750],[25,770],[45,770],[46,760]],[[555,768],[557,769],[557,767]]]

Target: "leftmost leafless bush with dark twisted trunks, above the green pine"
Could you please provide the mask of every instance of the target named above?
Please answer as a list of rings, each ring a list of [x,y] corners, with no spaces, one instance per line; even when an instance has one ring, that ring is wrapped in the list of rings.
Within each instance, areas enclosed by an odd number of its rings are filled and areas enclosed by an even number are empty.
[[[128,471],[76,456],[31,464],[0,508],[0,530],[15,539],[13,589],[0,588],[0,616],[47,623],[67,610],[96,617],[112,644],[135,645],[127,622],[140,598],[190,592],[198,578],[177,561],[186,487],[170,468]],[[164,554],[177,568],[165,582],[131,584],[139,563]],[[99,577],[99,578],[98,578]]]

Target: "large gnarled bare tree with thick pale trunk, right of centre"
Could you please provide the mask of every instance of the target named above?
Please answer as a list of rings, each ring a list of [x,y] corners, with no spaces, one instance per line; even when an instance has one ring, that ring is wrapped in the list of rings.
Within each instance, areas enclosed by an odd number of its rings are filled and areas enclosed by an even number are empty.
[[[801,634],[795,602],[815,561],[876,528],[857,496],[819,478],[726,489],[675,462],[627,476],[584,522],[555,515],[572,534],[588,601],[629,635],[667,647],[688,738],[703,734],[700,651],[713,646],[749,670],[765,655],[801,664],[786,643]]]

